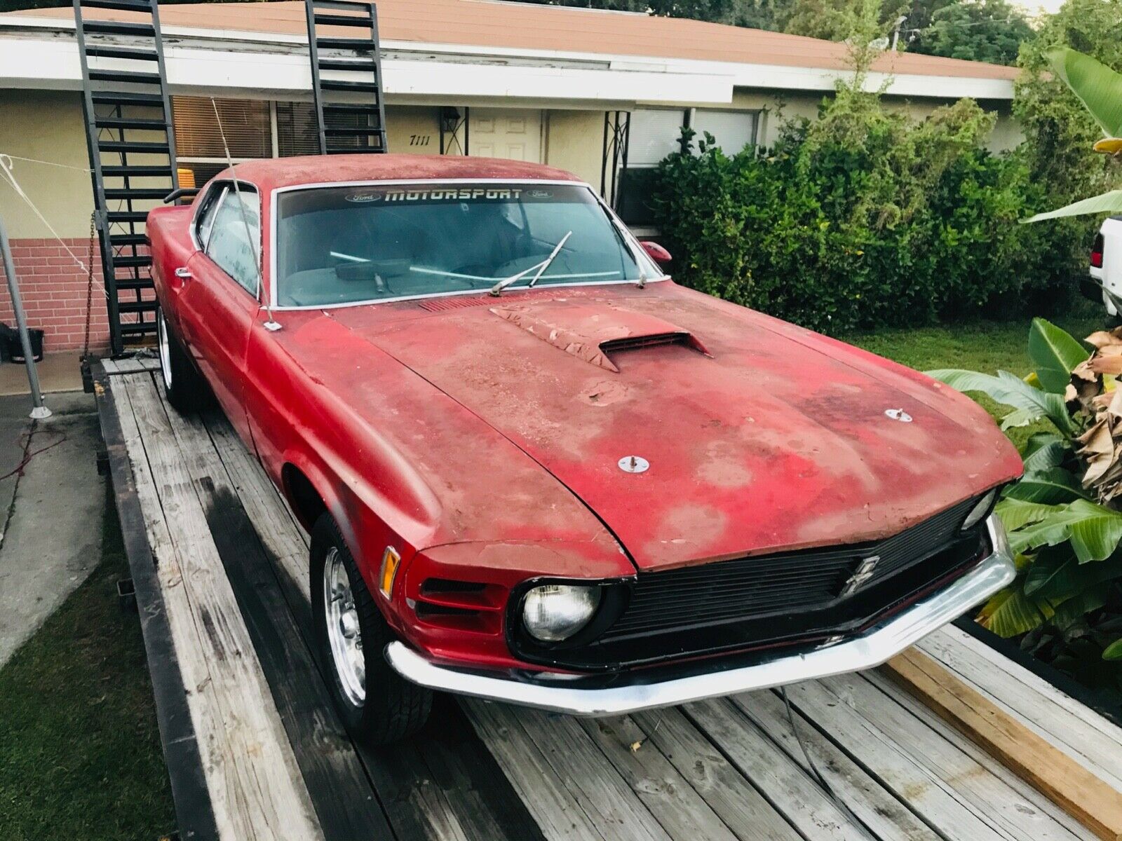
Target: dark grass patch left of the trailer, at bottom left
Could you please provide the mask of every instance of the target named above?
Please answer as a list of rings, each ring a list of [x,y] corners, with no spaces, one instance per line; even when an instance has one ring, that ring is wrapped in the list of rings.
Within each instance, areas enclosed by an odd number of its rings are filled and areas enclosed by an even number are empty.
[[[0,669],[0,839],[154,841],[175,829],[137,617],[107,502],[101,564]]]

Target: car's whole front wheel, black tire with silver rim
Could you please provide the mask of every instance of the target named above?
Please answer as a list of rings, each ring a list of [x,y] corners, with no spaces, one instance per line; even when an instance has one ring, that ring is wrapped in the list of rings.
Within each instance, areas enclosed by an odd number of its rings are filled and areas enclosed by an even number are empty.
[[[383,655],[393,640],[330,514],[312,528],[312,622],[329,685],[347,730],[388,745],[421,729],[432,692],[397,674]]]

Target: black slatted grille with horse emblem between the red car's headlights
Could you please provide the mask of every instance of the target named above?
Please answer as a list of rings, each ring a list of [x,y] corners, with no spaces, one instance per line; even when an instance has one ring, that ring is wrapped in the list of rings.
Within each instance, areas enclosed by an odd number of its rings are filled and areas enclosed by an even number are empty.
[[[984,524],[959,530],[976,502],[876,543],[640,573],[626,607],[595,641],[534,650],[523,640],[519,653],[553,665],[610,668],[845,632],[976,560]],[[870,574],[847,588],[863,564]]]

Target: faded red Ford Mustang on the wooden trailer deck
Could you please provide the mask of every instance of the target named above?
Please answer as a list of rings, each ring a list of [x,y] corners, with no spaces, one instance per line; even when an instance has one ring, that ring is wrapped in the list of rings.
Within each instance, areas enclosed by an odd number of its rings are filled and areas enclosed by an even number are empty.
[[[624,713],[876,665],[1013,577],[972,400],[675,285],[544,166],[240,164],[148,232],[168,400],[311,532],[347,724]]]

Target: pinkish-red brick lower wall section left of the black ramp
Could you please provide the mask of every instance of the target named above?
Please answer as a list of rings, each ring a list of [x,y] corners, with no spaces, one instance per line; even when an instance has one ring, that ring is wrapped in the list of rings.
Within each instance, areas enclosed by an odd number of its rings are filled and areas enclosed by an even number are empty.
[[[85,262],[89,240],[74,238],[65,242]],[[27,311],[27,324],[45,331],[44,351],[53,353],[81,350],[85,331],[86,274],[57,240],[12,240],[11,256],[16,264],[24,308]],[[109,318],[105,313],[105,293],[101,286],[101,260],[96,251],[94,278],[90,349],[104,352],[109,348]],[[16,326],[2,264],[0,281],[0,321]]]

